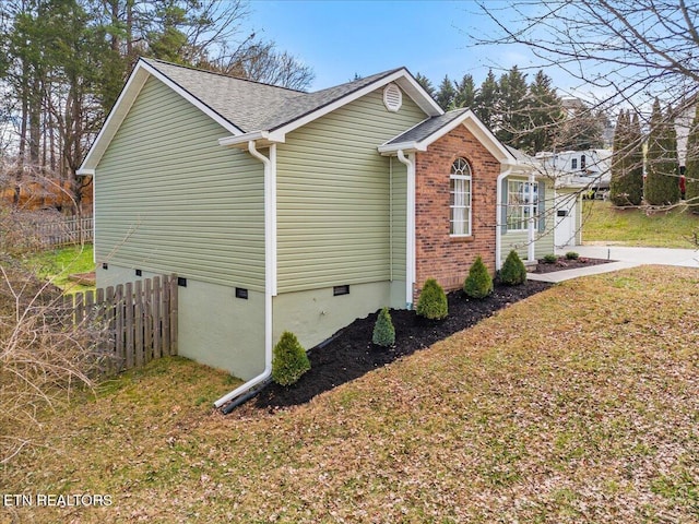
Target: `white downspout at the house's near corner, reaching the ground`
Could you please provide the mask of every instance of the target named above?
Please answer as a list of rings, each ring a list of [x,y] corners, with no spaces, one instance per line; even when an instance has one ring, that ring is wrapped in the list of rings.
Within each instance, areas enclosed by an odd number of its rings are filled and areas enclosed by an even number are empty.
[[[272,297],[276,295],[276,144],[270,145],[270,157],[261,154],[254,141],[248,152],[264,165],[264,371],[225,394],[214,406],[221,407],[272,376]]]

